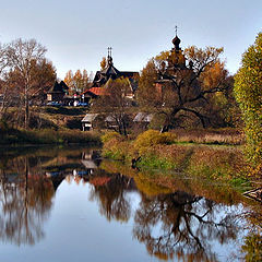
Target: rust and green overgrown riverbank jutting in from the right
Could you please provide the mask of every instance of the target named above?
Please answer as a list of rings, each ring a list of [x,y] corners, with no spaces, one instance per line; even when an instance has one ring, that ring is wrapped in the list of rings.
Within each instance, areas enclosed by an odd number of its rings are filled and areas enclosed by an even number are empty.
[[[248,164],[241,146],[179,141],[176,133],[148,130],[135,139],[107,133],[103,156],[122,160],[140,169],[165,169],[207,178],[239,187],[249,184]],[[238,143],[237,143],[238,144]]]

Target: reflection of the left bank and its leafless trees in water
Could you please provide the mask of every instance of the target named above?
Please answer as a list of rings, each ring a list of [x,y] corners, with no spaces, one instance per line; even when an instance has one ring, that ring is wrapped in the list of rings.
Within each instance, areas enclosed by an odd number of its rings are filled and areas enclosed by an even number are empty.
[[[41,239],[56,187],[67,174],[83,168],[83,153],[92,152],[81,146],[0,148],[0,238],[16,245]]]

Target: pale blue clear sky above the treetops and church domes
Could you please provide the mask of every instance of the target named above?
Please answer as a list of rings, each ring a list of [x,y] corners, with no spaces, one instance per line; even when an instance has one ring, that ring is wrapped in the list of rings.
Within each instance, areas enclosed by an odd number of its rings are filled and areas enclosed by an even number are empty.
[[[231,74],[262,32],[261,0],[0,0],[0,43],[35,38],[58,78],[69,70],[99,70],[107,47],[120,71],[141,71],[172,48],[224,47]]]

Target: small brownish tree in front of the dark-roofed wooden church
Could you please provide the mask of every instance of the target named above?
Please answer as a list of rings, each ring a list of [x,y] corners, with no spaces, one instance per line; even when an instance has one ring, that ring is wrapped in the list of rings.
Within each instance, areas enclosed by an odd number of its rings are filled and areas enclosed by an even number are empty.
[[[130,99],[128,95],[131,85],[128,79],[109,80],[104,88],[104,95],[94,104],[94,110],[109,116],[116,126],[115,131],[128,134]]]

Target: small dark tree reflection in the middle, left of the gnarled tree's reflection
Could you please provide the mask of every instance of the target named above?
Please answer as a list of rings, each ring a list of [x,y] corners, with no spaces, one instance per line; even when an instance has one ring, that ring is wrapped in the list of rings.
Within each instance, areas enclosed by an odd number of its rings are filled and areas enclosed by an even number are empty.
[[[132,179],[121,175],[112,175],[105,184],[94,186],[91,200],[99,201],[100,213],[108,221],[127,222],[131,215],[130,201],[124,192],[131,186]]]

